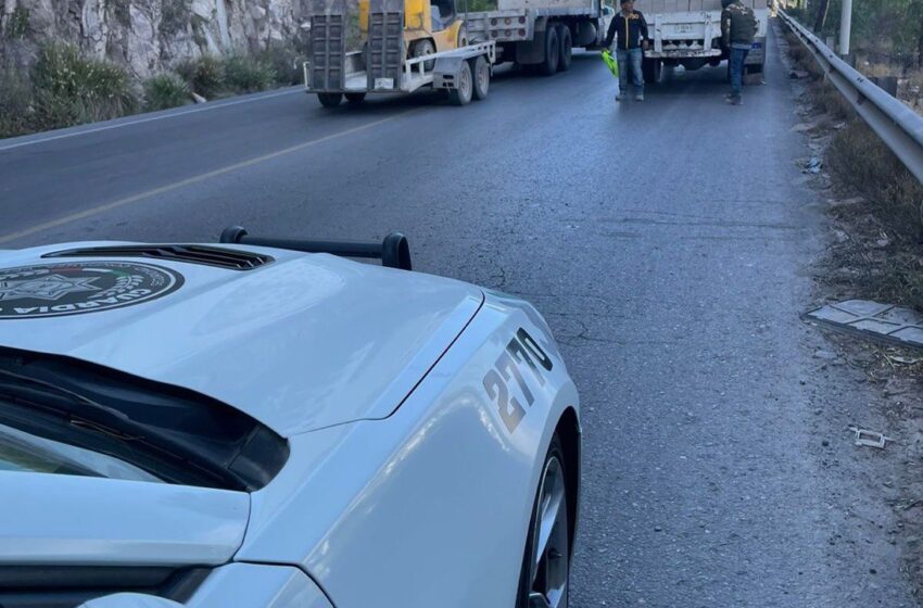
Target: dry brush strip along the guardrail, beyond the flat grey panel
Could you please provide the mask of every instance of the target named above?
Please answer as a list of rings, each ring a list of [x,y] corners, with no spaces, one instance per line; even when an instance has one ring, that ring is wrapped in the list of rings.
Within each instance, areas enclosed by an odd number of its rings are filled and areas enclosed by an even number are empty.
[[[809,74],[815,118],[808,136],[832,176],[836,242],[824,279],[844,297],[923,311],[923,185],[824,81],[813,58],[791,34],[788,55]]]

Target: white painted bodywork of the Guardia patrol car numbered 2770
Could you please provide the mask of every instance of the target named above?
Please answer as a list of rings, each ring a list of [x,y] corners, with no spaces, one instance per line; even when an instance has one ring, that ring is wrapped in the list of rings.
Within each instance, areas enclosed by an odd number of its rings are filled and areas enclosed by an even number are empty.
[[[46,252],[105,244],[0,252],[0,278],[59,262]],[[541,316],[450,279],[236,249],[275,262],[233,271],[113,256],[186,282],[124,308],[0,319],[0,346],[214,397],[286,438],[285,466],[250,494],[0,472],[0,495],[20,494],[0,504],[0,568],[218,566],[188,608],[511,608],[559,425],[576,442],[579,480],[579,397]],[[547,367],[510,350],[521,335]],[[491,377],[510,401],[500,403]],[[144,600],[121,593],[85,608],[149,608]]]

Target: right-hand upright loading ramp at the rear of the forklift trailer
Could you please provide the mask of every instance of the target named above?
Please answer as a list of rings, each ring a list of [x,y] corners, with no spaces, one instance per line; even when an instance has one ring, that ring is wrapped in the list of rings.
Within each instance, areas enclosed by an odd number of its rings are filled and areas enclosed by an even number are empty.
[[[368,12],[368,88],[401,90],[404,67],[404,1],[371,0]]]

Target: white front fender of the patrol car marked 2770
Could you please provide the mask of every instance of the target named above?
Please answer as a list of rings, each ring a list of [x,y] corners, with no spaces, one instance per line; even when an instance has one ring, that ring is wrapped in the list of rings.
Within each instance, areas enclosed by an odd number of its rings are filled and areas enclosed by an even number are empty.
[[[483,378],[520,327],[542,335],[489,299],[389,419],[293,438],[292,466],[253,494],[238,558],[299,561],[339,608],[511,607],[548,420],[578,406],[543,340],[555,367],[544,387],[526,376],[534,403],[508,432]]]

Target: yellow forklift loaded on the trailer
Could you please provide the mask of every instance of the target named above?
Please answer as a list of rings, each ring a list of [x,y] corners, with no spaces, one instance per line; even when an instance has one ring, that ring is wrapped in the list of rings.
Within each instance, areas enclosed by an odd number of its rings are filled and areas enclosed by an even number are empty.
[[[369,0],[359,0],[359,30],[368,40]],[[452,51],[468,45],[465,20],[455,0],[404,0],[407,59]],[[429,66],[428,66],[429,67]]]

